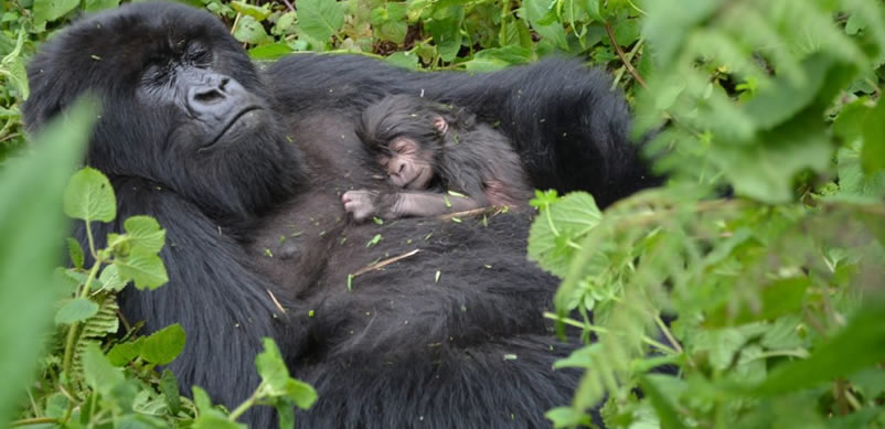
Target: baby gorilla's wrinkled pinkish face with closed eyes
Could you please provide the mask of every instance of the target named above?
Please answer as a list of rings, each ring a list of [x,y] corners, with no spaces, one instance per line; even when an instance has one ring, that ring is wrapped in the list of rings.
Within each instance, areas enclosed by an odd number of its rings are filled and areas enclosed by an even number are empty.
[[[387,144],[388,152],[378,155],[378,164],[397,187],[426,190],[434,179],[434,152],[406,137],[399,137]]]

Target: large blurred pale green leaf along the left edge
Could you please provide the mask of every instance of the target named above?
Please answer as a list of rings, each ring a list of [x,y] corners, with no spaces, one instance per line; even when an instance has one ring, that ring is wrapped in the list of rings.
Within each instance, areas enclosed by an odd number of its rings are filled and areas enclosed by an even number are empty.
[[[0,169],[0,427],[21,414],[20,398],[35,375],[53,301],[65,290],[52,275],[62,264],[70,226],[58,202],[96,110],[78,101],[66,111],[67,118],[35,136],[32,152]]]

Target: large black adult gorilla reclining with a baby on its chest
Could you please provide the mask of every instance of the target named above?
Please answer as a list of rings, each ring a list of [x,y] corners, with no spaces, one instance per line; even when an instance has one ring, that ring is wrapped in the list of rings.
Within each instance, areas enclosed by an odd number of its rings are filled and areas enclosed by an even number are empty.
[[[170,366],[185,392],[244,399],[269,335],[320,393],[307,427],[539,427],[569,400],[576,374],[551,368],[568,346],[540,317],[556,281],[525,261],[524,216],[355,225],[340,193],[373,181],[360,109],[409,93],[500,124],[540,187],[622,196],[648,181],[601,75],[564,61],[471,77],[320,55],[256,71],[211,14],[139,3],[56,34],[29,77],[32,130],[87,90],[103,100],[87,162],[110,178],[119,215],[96,236],[135,214],[167,228],[170,285],[120,300],[148,331],[184,326]],[[349,290],[349,274],[404,254]]]

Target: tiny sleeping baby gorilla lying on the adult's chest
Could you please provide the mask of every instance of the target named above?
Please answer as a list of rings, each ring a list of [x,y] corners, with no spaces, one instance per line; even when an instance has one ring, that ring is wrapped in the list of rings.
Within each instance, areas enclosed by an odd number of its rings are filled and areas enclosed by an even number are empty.
[[[363,111],[356,133],[390,182],[404,190],[345,192],[344,210],[356,221],[435,216],[488,205],[519,208],[533,195],[508,139],[461,109],[392,95]]]

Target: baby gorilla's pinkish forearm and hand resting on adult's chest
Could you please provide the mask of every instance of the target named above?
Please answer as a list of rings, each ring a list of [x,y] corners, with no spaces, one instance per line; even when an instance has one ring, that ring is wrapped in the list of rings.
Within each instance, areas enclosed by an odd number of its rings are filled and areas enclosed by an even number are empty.
[[[344,211],[353,214],[358,222],[371,216],[385,219],[415,216],[427,217],[479,208],[479,203],[469,196],[448,193],[398,192],[378,194],[367,190],[348,191],[341,196]]]

